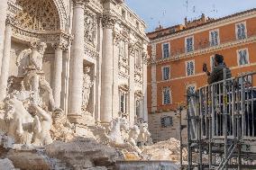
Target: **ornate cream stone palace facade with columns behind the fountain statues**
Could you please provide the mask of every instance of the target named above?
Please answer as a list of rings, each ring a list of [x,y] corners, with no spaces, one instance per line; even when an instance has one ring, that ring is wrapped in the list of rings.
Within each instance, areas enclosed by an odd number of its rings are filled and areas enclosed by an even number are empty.
[[[23,81],[21,53],[43,42],[48,92],[69,121],[83,114],[102,123],[147,121],[148,38],[123,0],[3,0],[0,12],[1,101],[10,79]]]

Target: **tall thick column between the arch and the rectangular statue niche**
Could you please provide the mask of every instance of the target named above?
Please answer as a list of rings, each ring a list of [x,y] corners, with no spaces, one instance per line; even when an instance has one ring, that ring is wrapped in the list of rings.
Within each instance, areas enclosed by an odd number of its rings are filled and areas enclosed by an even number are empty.
[[[87,0],[73,0],[74,40],[71,47],[69,79],[69,121],[78,123],[81,117],[83,89],[83,58],[85,55],[85,4]]]

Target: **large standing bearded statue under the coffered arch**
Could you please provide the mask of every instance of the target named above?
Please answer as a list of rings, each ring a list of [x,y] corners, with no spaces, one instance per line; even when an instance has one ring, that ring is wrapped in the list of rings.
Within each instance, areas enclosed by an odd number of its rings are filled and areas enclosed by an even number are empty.
[[[24,49],[17,58],[17,66],[20,66],[20,62],[23,58],[29,58],[29,64],[25,68],[25,77],[23,84],[26,90],[32,90],[34,92],[34,103],[41,104],[40,92],[44,91],[48,94],[50,105],[52,110],[55,109],[55,103],[52,95],[52,89],[50,84],[46,81],[44,72],[42,71],[42,58],[47,48],[44,42],[32,43],[31,49]]]

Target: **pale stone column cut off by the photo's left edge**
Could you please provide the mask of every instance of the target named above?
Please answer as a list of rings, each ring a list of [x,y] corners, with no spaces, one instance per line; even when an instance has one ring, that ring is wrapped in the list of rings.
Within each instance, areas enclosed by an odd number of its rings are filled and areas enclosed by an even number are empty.
[[[0,3],[0,75],[2,67],[2,58],[3,58],[3,49],[4,49],[4,40],[5,40],[5,20],[7,16],[7,4],[8,0],[2,0]]]

